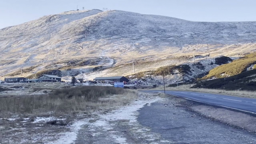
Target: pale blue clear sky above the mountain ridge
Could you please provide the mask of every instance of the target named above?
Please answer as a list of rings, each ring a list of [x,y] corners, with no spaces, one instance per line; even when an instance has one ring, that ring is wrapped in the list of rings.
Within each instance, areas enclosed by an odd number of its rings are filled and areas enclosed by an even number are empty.
[[[85,8],[124,10],[189,21],[256,21],[256,0],[0,0],[0,28]]]

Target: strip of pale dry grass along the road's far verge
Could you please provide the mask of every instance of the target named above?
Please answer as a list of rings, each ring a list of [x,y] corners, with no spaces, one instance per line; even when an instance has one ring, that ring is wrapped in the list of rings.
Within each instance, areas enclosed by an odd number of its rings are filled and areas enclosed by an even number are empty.
[[[211,94],[222,94],[222,95],[230,95],[230,96],[237,96],[237,97],[248,97],[248,98],[256,98],[256,91],[239,91],[239,90],[229,90],[223,92],[221,89],[207,89],[207,88],[190,88],[192,85],[181,85],[178,87],[168,87],[165,90],[172,90],[172,91],[195,91],[195,92],[202,92],[202,93],[211,93]],[[158,87],[152,90],[163,90],[163,87]]]

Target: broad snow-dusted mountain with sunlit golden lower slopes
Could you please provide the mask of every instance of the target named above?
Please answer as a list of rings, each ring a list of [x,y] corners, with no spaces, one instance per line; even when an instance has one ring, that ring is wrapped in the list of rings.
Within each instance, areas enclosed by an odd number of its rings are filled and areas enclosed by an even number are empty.
[[[51,64],[54,69],[76,66],[66,62],[90,57],[98,57],[97,66],[108,68],[134,59],[191,55],[193,49],[197,54],[232,56],[255,50],[255,36],[256,22],[192,22],[118,10],[70,11],[0,29],[0,77],[31,66],[35,68],[27,75]]]

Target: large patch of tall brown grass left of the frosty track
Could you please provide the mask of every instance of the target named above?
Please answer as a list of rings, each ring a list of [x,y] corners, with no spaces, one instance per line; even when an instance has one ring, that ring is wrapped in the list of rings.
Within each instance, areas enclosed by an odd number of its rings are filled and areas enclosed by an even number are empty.
[[[107,100],[100,98],[112,96]],[[116,97],[113,97],[116,96]],[[75,87],[40,96],[6,97],[0,100],[0,113],[40,114],[74,112],[114,107],[137,96],[134,91],[114,87]]]

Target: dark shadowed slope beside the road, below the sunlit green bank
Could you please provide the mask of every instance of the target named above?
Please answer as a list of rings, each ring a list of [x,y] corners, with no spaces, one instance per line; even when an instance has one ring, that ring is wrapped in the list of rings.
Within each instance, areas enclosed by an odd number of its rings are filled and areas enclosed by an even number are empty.
[[[213,79],[210,81],[197,81],[193,88],[213,88],[227,90],[256,90],[256,69],[241,72],[227,78]]]

